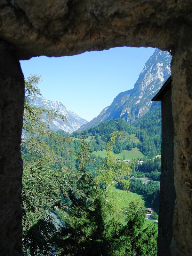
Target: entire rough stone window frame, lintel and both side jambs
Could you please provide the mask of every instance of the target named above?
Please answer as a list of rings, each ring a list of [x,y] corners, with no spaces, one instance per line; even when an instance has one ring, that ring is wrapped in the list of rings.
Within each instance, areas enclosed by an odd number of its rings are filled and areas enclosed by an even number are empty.
[[[18,59],[74,55],[116,46],[152,46],[172,51],[176,205],[171,254],[192,255],[191,31],[191,0],[0,1],[0,40],[6,42],[0,46],[2,255],[21,254],[24,82]]]

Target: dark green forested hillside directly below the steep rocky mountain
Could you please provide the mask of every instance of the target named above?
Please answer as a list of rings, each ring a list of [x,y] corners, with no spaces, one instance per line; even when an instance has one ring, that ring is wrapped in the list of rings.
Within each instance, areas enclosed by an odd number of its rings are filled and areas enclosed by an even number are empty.
[[[148,156],[149,158],[160,155],[161,103],[153,102],[149,112],[132,124],[120,118],[115,120],[111,119],[91,127],[90,129],[85,129],[82,132],[83,138],[86,138],[87,142],[89,142],[91,150],[94,153],[94,151],[105,150],[106,141],[108,141],[113,131],[126,132],[124,137],[117,137],[113,145],[114,154],[123,152],[122,154],[126,156],[126,151],[124,150],[131,151],[133,148],[138,148],[144,156]],[[82,132],[73,132],[72,136],[81,138]]]

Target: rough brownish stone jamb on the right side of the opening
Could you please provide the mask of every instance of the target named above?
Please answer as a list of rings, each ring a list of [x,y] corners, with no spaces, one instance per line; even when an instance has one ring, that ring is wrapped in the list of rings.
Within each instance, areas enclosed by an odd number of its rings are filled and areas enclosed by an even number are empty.
[[[172,113],[174,123],[174,185],[172,255],[192,255],[192,45],[191,31],[172,59]],[[188,34],[189,33],[189,34]]]

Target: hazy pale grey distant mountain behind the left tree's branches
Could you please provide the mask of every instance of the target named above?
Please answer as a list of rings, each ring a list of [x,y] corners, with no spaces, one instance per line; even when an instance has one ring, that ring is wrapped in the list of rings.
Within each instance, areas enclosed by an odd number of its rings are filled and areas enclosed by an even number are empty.
[[[50,124],[53,131],[64,130],[65,132],[73,132],[80,128],[83,124],[88,123],[85,119],[79,117],[73,111],[68,111],[66,107],[59,101],[47,100],[42,97],[36,97],[32,100],[32,105],[36,107],[44,107],[45,109],[56,110],[58,114],[65,115],[68,122],[61,122],[57,118]]]

